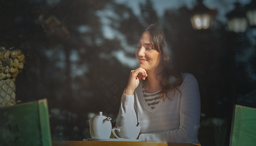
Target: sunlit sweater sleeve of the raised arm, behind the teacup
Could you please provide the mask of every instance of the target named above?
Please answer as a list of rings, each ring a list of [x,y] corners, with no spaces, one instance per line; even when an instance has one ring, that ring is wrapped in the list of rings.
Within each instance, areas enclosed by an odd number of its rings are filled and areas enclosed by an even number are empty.
[[[121,105],[116,120],[118,126],[136,126],[137,115],[134,108],[134,95],[123,95],[121,97]]]

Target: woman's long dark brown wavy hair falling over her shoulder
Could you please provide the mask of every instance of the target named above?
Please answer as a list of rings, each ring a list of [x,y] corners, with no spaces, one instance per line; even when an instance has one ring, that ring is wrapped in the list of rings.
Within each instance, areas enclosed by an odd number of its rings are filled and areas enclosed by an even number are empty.
[[[164,31],[163,28],[158,24],[151,24],[142,30],[140,36],[142,36],[142,34],[146,31],[150,34],[151,43],[153,43],[155,50],[160,53],[160,59],[163,59],[162,61],[165,66],[163,71],[163,79],[159,81],[160,86],[162,87],[162,91],[159,93],[160,97],[165,100],[164,95],[166,95],[166,97],[171,100],[167,93],[172,90],[174,93],[175,91],[181,93],[178,87],[182,84],[183,78],[179,70],[174,70],[172,66],[171,54],[168,51],[166,43],[167,30]],[[157,76],[159,74],[157,74]]]

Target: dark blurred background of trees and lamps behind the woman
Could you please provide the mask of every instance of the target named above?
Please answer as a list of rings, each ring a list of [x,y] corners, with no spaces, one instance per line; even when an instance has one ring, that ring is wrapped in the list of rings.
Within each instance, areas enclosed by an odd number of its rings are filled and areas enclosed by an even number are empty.
[[[151,23],[170,31],[175,65],[198,81],[202,146],[229,144],[234,104],[256,107],[255,0],[1,0],[0,7],[1,45],[12,42],[6,34],[33,38],[19,46],[32,63],[16,77],[16,100],[48,99],[52,141],[90,138],[88,120],[99,111],[115,125],[138,66],[136,37]]]

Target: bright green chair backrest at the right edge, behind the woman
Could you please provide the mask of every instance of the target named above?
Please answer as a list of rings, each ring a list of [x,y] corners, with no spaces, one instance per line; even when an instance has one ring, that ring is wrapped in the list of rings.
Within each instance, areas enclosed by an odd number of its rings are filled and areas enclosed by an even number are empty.
[[[230,146],[256,146],[256,108],[234,105]]]

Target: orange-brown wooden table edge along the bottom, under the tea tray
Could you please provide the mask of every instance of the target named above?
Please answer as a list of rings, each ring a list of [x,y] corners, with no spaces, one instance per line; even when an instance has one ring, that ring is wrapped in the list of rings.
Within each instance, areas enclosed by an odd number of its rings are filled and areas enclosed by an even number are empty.
[[[54,141],[52,146],[197,146],[192,143],[117,142],[117,141]]]

